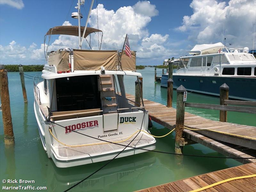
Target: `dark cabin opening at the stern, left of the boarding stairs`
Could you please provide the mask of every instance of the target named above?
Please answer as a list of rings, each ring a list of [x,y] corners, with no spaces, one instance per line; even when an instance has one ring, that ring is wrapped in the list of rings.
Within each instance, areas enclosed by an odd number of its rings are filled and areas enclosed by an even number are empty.
[[[98,76],[74,76],[56,79],[58,111],[100,108]]]

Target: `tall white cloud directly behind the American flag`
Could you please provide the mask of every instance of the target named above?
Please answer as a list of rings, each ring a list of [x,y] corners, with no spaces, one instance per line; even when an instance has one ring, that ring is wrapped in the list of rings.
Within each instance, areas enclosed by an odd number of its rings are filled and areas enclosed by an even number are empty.
[[[98,4],[99,29],[103,31],[103,39],[108,49],[122,49],[125,34],[128,34],[132,50],[137,51],[139,58],[167,56],[170,50],[163,45],[168,35],[152,34],[149,36],[146,26],[158,10],[149,1],[139,1],[133,6],[120,7],[118,10],[107,10]],[[90,26],[97,28],[97,9],[91,12]],[[95,41],[98,42],[98,39]],[[103,47],[103,45],[102,45]],[[96,47],[94,47],[96,48]],[[104,47],[103,47],[104,48]]]

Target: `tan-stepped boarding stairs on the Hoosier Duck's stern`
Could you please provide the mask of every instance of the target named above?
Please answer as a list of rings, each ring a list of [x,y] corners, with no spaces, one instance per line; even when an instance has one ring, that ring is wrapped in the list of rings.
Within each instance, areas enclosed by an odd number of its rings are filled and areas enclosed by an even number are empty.
[[[112,75],[100,75],[100,98],[103,105],[103,113],[117,113],[116,93]]]

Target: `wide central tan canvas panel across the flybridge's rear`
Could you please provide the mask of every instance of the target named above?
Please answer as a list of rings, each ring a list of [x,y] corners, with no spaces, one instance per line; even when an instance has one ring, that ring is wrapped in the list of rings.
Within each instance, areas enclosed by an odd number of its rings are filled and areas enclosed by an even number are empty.
[[[74,70],[117,70],[117,51],[73,50]]]

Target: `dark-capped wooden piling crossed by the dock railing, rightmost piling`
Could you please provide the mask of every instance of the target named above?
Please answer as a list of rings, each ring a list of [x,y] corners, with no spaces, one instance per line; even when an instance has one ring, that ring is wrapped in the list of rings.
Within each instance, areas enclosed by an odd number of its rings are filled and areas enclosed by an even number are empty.
[[[228,100],[229,87],[226,83],[220,86],[220,105],[227,105],[224,100]],[[228,112],[220,110],[220,122],[227,122]]]

